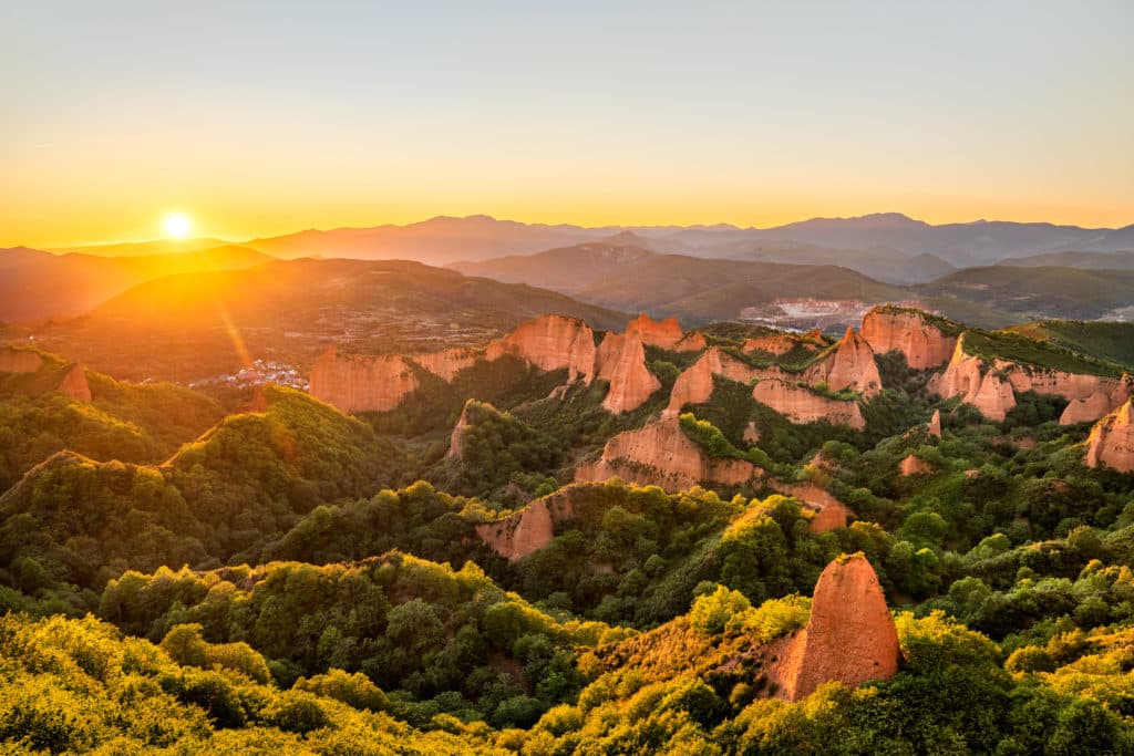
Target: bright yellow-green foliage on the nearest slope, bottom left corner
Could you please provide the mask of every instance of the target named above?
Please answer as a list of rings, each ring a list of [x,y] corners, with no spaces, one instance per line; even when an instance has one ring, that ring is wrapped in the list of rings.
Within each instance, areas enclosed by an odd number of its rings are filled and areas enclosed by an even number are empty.
[[[0,742],[5,753],[497,753],[475,728],[422,732],[319,690],[180,666],[91,618],[11,614],[0,618]]]

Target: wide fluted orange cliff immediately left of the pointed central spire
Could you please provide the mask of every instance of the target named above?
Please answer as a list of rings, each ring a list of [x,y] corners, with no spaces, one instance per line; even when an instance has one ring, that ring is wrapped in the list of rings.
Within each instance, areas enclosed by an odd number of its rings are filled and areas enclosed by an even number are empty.
[[[541,371],[566,367],[567,380],[594,379],[594,332],[576,317],[541,315],[521,323],[508,335],[488,347],[485,357],[491,362],[503,355],[514,355]]]

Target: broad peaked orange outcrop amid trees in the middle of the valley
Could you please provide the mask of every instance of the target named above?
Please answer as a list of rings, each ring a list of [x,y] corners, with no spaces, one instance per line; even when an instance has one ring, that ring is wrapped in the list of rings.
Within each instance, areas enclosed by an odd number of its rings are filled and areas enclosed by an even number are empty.
[[[755,465],[743,459],[709,457],[672,417],[619,433],[607,442],[601,459],[575,470],[575,479],[598,482],[618,476],[627,483],[684,491],[700,483],[739,485],[756,474]]]

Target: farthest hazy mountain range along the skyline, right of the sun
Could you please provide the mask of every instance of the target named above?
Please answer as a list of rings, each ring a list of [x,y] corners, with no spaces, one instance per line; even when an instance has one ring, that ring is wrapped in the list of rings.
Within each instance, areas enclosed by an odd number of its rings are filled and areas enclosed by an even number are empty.
[[[811,261],[847,266],[855,266],[856,261],[870,257],[877,258],[879,265],[889,265],[895,260],[903,265],[903,261],[932,256],[946,265],[966,267],[990,265],[1006,257],[1051,252],[1134,252],[1134,226],[1123,229],[1084,229],[1077,226],[1007,221],[931,226],[899,213],[846,219],[816,218],[769,229],[727,224],[584,228],[499,221],[488,215],[441,216],[408,226],[301,231],[244,244],[286,258],[403,258],[435,265],[533,254],[602,239],[623,231],[631,231],[645,239],[654,252],[697,257],[763,255],[769,262]],[[847,255],[847,260],[839,261],[839,254]],[[822,260],[815,261],[816,255]],[[940,263],[928,257],[922,262],[936,265],[936,272],[940,274]],[[916,275],[916,263],[913,270],[915,278],[907,278],[907,281],[932,278]],[[863,269],[862,272],[871,271]]]

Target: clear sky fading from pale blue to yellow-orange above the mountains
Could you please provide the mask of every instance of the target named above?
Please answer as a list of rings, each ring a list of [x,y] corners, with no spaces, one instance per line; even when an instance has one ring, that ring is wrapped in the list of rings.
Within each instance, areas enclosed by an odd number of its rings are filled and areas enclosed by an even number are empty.
[[[1134,223],[1134,2],[0,0],[0,246]]]

